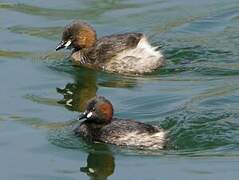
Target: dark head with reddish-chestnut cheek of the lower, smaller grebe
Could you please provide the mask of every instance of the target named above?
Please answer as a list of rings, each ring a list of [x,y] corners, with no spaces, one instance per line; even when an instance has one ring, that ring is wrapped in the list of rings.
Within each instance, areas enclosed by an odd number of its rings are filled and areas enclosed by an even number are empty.
[[[85,111],[79,120],[87,119],[97,124],[108,124],[112,121],[113,113],[111,102],[103,96],[97,96],[87,102]]]

